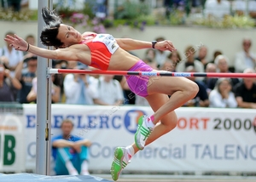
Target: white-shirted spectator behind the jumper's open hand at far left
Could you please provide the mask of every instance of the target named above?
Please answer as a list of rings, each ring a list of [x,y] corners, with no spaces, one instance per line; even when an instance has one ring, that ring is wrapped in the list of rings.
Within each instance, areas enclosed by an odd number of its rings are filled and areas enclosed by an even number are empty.
[[[9,31],[5,34],[5,37],[7,35],[13,37],[15,33]],[[23,60],[22,52],[15,50],[15,48],[9,46],[9,43],[6,43],[6,45],[3,46],[3,48],[0,48],[0,57],[4,57],[8,60],[8,64],[5,65],[8,67],[10,71],[10,76],[15,77],[15,69],[17,65]]]

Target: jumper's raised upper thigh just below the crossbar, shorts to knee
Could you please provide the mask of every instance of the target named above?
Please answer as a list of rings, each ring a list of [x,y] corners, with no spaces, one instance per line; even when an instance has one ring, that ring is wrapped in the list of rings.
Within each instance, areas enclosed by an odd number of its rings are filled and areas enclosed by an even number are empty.
[[[148,94],[170,95],[178,90],[186,90],[191,82],[186,77],[150,77],[148,80]]]

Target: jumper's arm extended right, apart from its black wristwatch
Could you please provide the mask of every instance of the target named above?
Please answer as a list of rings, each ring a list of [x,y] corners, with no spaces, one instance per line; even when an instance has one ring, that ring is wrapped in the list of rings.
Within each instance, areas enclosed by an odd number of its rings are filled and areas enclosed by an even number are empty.
[[[127,51],[136,50],[142,48],[152,48],[152,43],[135,40],[131,38],[116,38],[116,42],[119,44],[120,48],[123,48]],[[161,41],[154,45],[154,48],[159,50],[169,50],[174,51],[176,48],[173,46],[171,41]]]

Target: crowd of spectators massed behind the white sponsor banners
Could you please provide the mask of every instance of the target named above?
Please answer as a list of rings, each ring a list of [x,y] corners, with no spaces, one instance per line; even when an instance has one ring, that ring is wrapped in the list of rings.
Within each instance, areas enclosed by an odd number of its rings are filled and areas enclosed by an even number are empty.
[[[8,32],[6,35],[14,35]],[[157,37],[157,41],[165,37]],[[34,44],[32,35],[26,40]],[[236,54],[234,68],[222,51],[216,50],[207,59],[207,45],[188,45],[184,52],[159,51],[148,48],[143,61],[155,70],[178,72],[255,72],[256,54],[250,49],[248,38],[241,40],[241,51]],[[76,61],[52,60],[57,69],[92,69]],[[197,83],[199,93],[183,106],[256,108],[256,79],[217,77],[188,77]],[[70,105],[148,105],[147,101],[131,92],[125,77],[88,74],[51,75],[52,103]],[[0,48],[0,102],[37,103],[37,56],[16,51],[9,45]],[[171,95],[170,95],[171,96]]]

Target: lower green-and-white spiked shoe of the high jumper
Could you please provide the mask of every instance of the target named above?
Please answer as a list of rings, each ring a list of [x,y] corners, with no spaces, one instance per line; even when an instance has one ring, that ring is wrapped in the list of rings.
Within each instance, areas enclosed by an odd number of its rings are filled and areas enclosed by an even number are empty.
[[[114,158],[111,165],[110,173],[112,179],[116,181],[117,179],[119,179],[119,173],[121,173],[122,169],[127,166],[127,163],[123,161],[125,157],[125,152],[124,149],[122,149],[121,147],[117,147],[115,149],[113,156]]]

